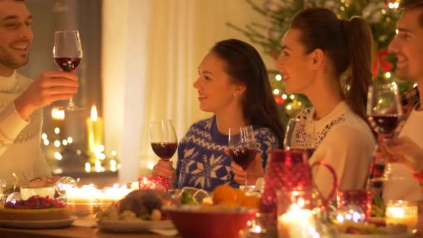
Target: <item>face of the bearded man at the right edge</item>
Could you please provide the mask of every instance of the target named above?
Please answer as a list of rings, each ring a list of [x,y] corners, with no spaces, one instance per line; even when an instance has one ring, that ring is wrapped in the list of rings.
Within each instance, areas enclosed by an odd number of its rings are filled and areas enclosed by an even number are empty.
[[[397,23],[398,34],[389,45],[397,55],[397,76],[423,83],[423,26],[419,24],[423,8],[404,10]]]

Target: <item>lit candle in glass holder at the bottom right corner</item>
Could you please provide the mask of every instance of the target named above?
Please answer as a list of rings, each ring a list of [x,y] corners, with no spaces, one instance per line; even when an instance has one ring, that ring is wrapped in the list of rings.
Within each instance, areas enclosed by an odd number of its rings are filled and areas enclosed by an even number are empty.
[[[407,201],[389,201],[386,205],[386,223],[403,224],[413,230],[417,224],[417,204]]]

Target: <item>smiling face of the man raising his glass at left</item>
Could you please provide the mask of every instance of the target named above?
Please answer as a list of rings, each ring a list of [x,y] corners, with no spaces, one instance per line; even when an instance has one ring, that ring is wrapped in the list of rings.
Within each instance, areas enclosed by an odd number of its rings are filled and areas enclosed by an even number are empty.
[[[23,1],[0,0],[0,75],[28,63],[32,17]]]

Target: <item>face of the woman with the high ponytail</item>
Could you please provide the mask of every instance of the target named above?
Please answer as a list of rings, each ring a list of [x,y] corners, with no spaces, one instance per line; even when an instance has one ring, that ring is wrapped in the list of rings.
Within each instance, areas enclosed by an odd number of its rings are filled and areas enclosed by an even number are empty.
[[[276,67],[282,72],[287,93],[307,94],[314,80],[312,56],[300,42],[301,31],[289,29],[282,40],[282,53]]]

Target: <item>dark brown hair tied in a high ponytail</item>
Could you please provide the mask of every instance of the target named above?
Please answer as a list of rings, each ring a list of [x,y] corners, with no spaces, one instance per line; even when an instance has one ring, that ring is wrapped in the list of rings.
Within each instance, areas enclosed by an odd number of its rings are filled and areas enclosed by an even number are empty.
[[[367,120],[367,90],[373,83],[373,41],[365,20],[360,17],[338,19],[332,10],[307,8],[295,15],[291,28],[300,30],[306,54],[314,49],[324,51],[333,63],[335,77],[341,79],[342,74],[348,72],[341,96],[358,116]],[[341,87],[341,82],[339,85]]]

